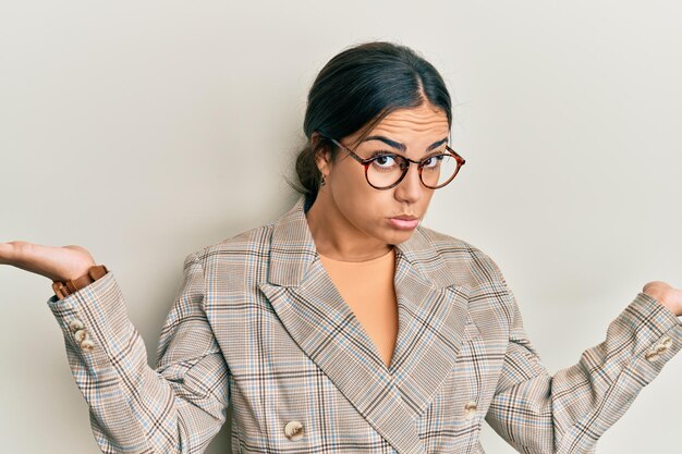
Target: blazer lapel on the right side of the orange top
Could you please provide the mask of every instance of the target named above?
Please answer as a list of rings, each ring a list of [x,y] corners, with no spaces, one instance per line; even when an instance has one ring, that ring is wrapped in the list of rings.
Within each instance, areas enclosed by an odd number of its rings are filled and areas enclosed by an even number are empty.
[[[427,272],[428,267],[428,272]],[[414,415],[422,415],[454,368],[468,319],[470,286],[418,230],[397,246],[398,340],[390,372]]]

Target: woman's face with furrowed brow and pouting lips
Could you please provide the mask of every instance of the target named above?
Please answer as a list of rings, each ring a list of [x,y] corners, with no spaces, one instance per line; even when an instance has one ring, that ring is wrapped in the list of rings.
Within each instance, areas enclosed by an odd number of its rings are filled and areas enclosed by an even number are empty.
[[[388,151],[419,160],[444,151],[449,131],[446,113],[425,103],[391,112],[361,143],[362,132],[338,140],[363,159]],[[383,245],[405,242],[424,218],[435,191],[422,184],[415,164],[397,186],[376,189],[367,184],[364,167],[344,149],[333,162],[328,157],[318,159],[318,168],[327,182],[318,198],[328,205],[326,211],[334,220],[334,229],[343,229],[350,240]],[[395,219],[412,217],[417,221]]]

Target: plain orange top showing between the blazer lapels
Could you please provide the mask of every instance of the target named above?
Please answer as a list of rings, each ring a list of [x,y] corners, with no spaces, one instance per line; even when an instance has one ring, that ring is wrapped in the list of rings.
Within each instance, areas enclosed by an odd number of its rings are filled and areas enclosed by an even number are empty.
[[[333,260],[321,254],[319,258],[389,367],[398,336],[398,304],[393,286],[395,249],[365,261]]]

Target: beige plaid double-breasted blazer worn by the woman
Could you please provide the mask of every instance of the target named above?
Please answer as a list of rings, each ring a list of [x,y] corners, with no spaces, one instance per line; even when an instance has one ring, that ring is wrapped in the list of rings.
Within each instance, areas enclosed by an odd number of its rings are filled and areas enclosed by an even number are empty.
[[[112,271],[48,300],[102,452],[200,453],[232,403],[233,453],[484,453],[484,418],[519,452],[594,453],[682,346],[680,320],[638,293],[552,377],[497,265],[419,226],[397,246],[387,368],[305,206],[186,257],[155,369]]]

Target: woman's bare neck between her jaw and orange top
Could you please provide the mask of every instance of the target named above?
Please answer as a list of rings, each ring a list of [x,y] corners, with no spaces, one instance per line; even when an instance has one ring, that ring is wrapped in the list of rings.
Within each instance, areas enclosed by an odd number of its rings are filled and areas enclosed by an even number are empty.
[[[322,192],[324,193],[324,192]],[[306,213],[317,251],[333,260],[365,261],[381,257],[392,245],[367,235],[353,225],[331,197],[318,194]]]

